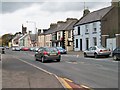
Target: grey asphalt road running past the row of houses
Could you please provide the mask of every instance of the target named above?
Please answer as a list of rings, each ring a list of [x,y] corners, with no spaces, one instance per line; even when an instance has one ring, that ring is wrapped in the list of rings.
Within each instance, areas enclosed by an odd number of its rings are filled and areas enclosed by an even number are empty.
[[[118,61],[113,61],[112,58],[94,59],[66,54],[62,55],[61,62],[41,63],[34,60],[34,52],[6,50],[6,55],[31,66],[42,68],[58,77],[70,79],[78,85],[85,85],[91,88],[118,88],[119,65]],[[3,69],[6,68],[6,63],[3,61]],[[14,63],[12,62],[11,64]],[[19,65],[19,63],[16,65]]]

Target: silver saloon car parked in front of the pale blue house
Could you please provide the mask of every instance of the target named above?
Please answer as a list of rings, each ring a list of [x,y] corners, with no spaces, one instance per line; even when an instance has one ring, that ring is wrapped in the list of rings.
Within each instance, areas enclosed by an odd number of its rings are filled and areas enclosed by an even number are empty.
[[[88,50],[84,51],[84,57],[87,56],[94,56],[95,58],[97,58],[98,56],[109,57],[110,54],[111,54],[110,49],[106,49],[103,46],[90,47]]]

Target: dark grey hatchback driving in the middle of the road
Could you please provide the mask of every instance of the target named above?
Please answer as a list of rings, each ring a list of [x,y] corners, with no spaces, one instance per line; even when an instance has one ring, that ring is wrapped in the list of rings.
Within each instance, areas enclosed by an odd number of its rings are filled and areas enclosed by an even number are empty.
[[[55,47],[40,47],[35,54],[35,60],[41,60],[43,63],[48,60],[60,62],[61,55]]]

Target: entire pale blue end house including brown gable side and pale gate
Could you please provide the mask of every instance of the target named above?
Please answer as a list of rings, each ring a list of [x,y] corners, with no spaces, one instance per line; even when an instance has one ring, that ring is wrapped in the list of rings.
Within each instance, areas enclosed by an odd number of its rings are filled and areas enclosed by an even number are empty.
[[[120,3],[90,12],[84,10],[83,17],[74,26],[74,51],[83,51],[91,46],[120,46]]]

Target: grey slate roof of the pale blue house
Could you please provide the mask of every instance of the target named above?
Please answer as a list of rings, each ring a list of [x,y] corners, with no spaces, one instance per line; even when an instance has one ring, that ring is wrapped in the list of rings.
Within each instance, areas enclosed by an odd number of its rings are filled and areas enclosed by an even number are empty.
[[[101,20],[111,9],[112,9],[112,7],[110,6],[110,7],[106,7],[106,8],[91,12],[91,13],[87,14],[85,17],[81,18],[75,24],[75,26]]]

